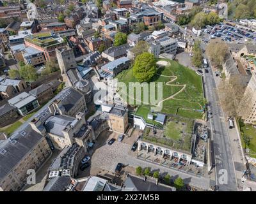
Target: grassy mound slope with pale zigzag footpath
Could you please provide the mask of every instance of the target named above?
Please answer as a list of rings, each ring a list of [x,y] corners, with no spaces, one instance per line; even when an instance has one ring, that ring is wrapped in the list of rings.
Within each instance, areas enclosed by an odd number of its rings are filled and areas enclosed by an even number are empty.
[[[202,119],[202,113],[198,112],[198,110],[202,110],[204,106],[202,78],[196,75],[195,71],[192,69],[186,68],[176,61],[171,61],[168,59],[159,59],[159,61],[160,60],[170,62],[169,66],[158,68],[157,75],[152,78],[152,82],[163,82],[163,99],[166,99],[179,92],[181,89],[184,89],[173,98],[163,101],[163,108],[161,112],[177,114],[182,117],[189,117],[193,119]],[[176,77],[177,79],[175,79]],[[134,78],[132,75],[132,68],[122,71],[122,73],[117,75],[116,78],[118,79],[118,82],[124,82],[128,87],[127,90],[129,91],[131,91],[131,87],[129,88],[128,85],[129,82],[137,82],[136,78]],[[170,82],[170,80],[173,81]],[[166,84],[167,82],[170,84]],[[141,93],[142,91],[143,88],[141,88]],[[122,89],[118,91],[118,94],[121,96],[123,94],[122,98],[124,101],[128,101],[128,97],[125,97]],[[157,96],[157,91],[155,95]],[[141,101],[143,101],[143,94],[141,94]],[[141,103],[134,100],[133,104],[129,104],[140,105]],[[154,105],[145,106],[154,107]],[[148,108],[148,110],[150,110],[150,108]],[[144,113],[143,115],[147,116],[147,113]]]

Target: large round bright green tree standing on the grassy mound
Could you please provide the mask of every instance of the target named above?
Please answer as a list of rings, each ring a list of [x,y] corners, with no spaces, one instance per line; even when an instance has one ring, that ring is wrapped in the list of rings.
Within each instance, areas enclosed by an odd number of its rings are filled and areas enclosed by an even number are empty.
[[[139,82],[150,82],[157,72],[155,56],[148,52],[138,55],[132,67],[132,72]]]

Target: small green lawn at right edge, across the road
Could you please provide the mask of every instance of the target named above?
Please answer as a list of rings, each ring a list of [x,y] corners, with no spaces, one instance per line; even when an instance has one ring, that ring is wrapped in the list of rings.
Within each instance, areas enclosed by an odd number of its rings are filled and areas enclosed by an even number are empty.
[[[244,143],[244,137],[248,136],[250,138],[250,145],[249,149],[250,152],[248,153],[249,156],[256,158],[256,129],[253,128],[252,124],[244,124],[244,126],[240,126],[241,128],[241,141],[243,148],[245,148],[245,143]]]

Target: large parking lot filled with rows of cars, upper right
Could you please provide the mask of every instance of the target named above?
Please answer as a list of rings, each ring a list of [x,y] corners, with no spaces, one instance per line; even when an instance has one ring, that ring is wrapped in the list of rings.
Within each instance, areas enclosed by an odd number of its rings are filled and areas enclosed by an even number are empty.
[[[205,35],[206,42],[214,38],[220,38],[223,41],[236,43],[245,43],[248,40],[256,40],[256,33],[253,32],[252,29],[244,29],[230,24],[208,25],[202,32]]]

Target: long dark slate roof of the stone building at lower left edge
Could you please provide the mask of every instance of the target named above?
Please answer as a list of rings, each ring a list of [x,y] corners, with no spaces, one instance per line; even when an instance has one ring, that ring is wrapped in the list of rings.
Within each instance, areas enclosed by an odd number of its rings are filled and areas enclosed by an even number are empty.
[[[4,154],[0,154],[0,180],[42,140],[42,137],[28,125],[22,131],[10,137],[16,143],[12,143],[10,140],[0,141],[0,152],[6,150]]]

